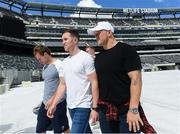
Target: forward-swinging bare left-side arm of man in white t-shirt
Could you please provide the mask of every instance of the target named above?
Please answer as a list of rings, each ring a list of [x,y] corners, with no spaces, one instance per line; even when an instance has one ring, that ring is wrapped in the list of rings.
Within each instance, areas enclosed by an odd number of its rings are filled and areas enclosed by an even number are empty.
[[[52,103],[49,106],[48,111],[47,111],[47,116],[49,118],[54,117],[53,114],[56,111],[56,105],[57,105],[58,101],[63,97],[65,90],[66,90],[66,84],[64,81],[64,77],[60,77],[60,83],[59,83],[58,89],[55,92],[55,94],[53,95]]]

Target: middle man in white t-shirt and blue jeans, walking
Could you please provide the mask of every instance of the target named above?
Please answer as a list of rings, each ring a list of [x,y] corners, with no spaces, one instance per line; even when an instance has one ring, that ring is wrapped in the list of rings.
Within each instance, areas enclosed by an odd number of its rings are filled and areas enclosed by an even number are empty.
[[[72,119],[71,133],[89,133],[89,118],[99,120],[97,102],[99,89],[94,67],[94,59],[78,47],[79,34],[75,30],[62,33],[65,51],[69,56],[63,61],[61,82],[48,109],[48,117],[53,117],[56,104],[67,93],[67,106]]]

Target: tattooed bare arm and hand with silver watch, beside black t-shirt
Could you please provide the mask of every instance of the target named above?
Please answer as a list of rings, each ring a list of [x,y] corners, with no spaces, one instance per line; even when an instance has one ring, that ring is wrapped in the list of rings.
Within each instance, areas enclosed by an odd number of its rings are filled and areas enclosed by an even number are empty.
[[[139,107],[139,101],[141,96],[142,89],[142,75],[140,70],[131,71],[128,73],[128,76],[131,80],[130,85],[130,104],[129,111],[127,113],[127,122],[129,124],[129,130],[136,132],[140,129],[140,124],[143,125],[143,122],[140,118],[139,112],[133,113],[131,109],[136,109]]]

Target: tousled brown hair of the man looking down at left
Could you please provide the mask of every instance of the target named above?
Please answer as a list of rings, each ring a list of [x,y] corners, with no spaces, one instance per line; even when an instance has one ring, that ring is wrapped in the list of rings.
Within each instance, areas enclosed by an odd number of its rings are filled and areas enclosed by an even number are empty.
[[[44,55],[44,53],[51,55],[51,50],[47,46],[39,44],[33,49],[34,56],[36,55],[36,53],[39,53],[42,56]]]

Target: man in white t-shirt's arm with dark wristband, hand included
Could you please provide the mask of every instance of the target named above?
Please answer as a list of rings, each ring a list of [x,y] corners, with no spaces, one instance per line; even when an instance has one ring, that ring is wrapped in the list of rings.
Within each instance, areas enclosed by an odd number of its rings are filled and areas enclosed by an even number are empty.
[[[88,79],[91,81],[92,86],[92,108],[97,108],[98,99],[99,99],[99,88],[96,72],[93,72],[88,75]],[[96,110],[91,111],[90,118],[93,122],[99,120],[99,114]]]

